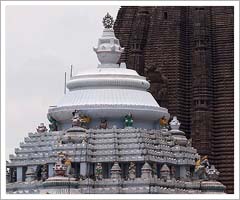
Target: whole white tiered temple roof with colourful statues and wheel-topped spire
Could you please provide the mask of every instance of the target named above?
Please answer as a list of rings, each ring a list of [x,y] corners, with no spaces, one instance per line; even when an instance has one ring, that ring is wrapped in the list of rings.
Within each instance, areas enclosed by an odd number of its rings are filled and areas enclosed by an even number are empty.
[[[145,77],[118,63],[124,48],[113,23],[107,13],[93,49],[100,64],[70,76],[48,110],[49,130],[40,123],[9,156],[7,193],[224,193],[177,116],[158,105]]]

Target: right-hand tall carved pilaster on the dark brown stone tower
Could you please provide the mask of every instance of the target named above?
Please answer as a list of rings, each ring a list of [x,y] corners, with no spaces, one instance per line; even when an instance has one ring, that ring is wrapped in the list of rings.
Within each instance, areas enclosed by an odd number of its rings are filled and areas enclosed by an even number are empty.
[[[191,137],[202,155],[211,155],[212,123],[212,40],[210,7],[192,7],[189,26],[191,29],[192,65],[192,128]]]

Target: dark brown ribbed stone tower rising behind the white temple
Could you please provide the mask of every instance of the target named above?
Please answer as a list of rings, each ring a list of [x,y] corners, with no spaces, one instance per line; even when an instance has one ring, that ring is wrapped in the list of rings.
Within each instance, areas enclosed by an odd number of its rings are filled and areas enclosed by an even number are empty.
[[[234,8],[120,8],[120,62],[146,76],[201,155],[234,192]]]

